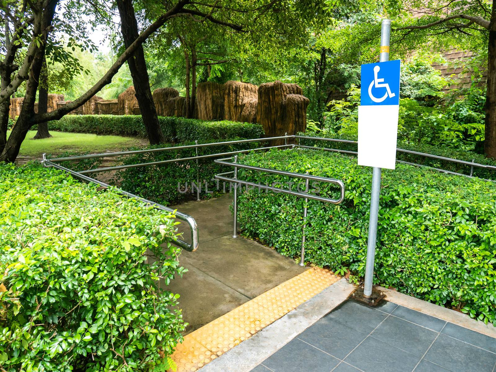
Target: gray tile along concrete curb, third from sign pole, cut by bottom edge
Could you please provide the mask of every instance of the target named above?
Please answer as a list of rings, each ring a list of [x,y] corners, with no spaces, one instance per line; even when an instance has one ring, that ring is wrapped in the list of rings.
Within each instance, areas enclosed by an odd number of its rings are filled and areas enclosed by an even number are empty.
[[[330,372],[339,360],[295,338],[265,359],[274,372]]]

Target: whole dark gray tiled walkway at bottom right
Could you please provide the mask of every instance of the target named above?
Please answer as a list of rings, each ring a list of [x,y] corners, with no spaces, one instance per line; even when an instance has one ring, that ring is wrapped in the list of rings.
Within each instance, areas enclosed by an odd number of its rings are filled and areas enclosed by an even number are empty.
[[[496,338],[384,302],[347,301],[251,372],[496,372]]]

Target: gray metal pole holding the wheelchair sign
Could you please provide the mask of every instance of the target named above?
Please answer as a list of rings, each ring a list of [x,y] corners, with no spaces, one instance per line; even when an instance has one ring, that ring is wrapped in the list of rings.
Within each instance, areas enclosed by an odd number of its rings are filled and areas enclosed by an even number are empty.
[[[389,38],[391,36],[391,20],[383,19],[380,29],[379,62],[389,60]],[[367,243],[367,262],[365,266],[364,296],[372,296],[373,267],[375,259],[375,240],[377,237],[377,217],[379,214],[379,194],[381,168],[374,167],[372,171],[371,214],[369,220],[369,241]]]

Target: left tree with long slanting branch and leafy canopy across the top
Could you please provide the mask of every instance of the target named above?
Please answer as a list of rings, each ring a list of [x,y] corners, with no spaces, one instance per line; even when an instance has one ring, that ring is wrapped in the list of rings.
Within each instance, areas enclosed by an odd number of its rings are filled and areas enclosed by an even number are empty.
[[[46,2],[48,1],[48,3]],[[149,1],[149,0],[146,0]],[[124,50],[123,53],[116,59],[110,69],[101,77],[101,79],[86,93],[75,99],[71,103],[64,105],[54,111],[35,114],[34,99],[38,86],[38,79],[41,71],[42,57],[46,49],[48,34],[56,32],[58,28],[65,28],[65,33],[71,35],[71,32],[77,36],[77,30],[81,29],[77,24],[77,20],[72,23],[72,27],[68,27],[66,19],[63,22],[59,18],[55,18],[56,22],[46,22],[43,18],[46,13],[50,13],[53,8],[63,5],[65,8],[71,7],[72,11],[65,11],[64,17],[75,17],[81,14],[91,13],[97,14],[102,18],[105,13],[99,3],[93,1],[85,2],[80,0],[64,1],[61,0],[38,0],[35,2],[26,1],[23,8],[18,11],[15,6],[15,0],[5,0],[2,3],[0,12],[3,12],[7,21],[6,32],[2,35],[8,43],[5,43],[5,58],[2,61],[1,71],[8,70],[8,74],[2,72],[0,91],[0,117],[6,117],[8,113],[9,98],[17,90],[17,88],[27,81],[26,97],[22,106],[21,114],[17,119],[8,140],[6,137],[6,121],[0,124],[0,161],[13,161],[17,157],[20,144],[24,140],[27,131],[34,124],[45,122],[48,120],[58,120],[66,113],[83,105],[105,85],[111,82],[112,77],[117,73],[129,57],[137,50],[143,42],[145,42],[155,31],[171,19],[185,17],[193,19],[198,24],[214,24],[221,26],[224,30],[233,30],[235,33],[243,33],[248,35],[253,48],[261,46],[264,48],[275,47],[280,45],[279,39],[289,40],[297,43],[307,37],[307,29],[314,23],[323,24],[328,13],[336,7],[346,7],[353,4],[351,0],[251,0],[232,2],[229,0],[205,0],[203,2],[192,0],[177,0],[177,2],[157,3],[150,1],[149,6],[144,7],[149,11],[147,17],[149,25],[139,34],[139,36]],[[74,11],[82,7],[79,12]],[[88,7],[91,10],[88,10]],[[11,10],[15,10],[15,14],[11,14]],[[306,23],[301,22],[302,19]],[[308,26],[310,25],[310,26]],[[22,36],[22,38],[20,38]],[[72,42],[75,45],[88,45],[86,35],[82,35],[82,40],[77,37],[72,37]],[[12,53],[17,53],[18,44],[11,43],[13,39],[23,39],[26,41],[26,53],[20,65],[13,65],[13,59],[9,62],[9,57]],[[78,44],[79,43],[79,44]],[[261,48],[263,49],[263,48]],[[9,57],[10,58],[10,57]],[[12,72],[17,73],[12,77]],[[0,72],[1,72],[0,71]],[[8,75],[8,76],[7,76]],[[6,108],[6,111],[5,111]]]

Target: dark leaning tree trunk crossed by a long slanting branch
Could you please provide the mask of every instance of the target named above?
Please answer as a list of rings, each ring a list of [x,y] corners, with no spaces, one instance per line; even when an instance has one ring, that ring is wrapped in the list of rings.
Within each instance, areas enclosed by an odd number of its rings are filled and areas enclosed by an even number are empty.
[[[132,0],[117,0],[119,14],[121,15],[121,30],[126,48],[138,38],[138,24],[134,14]],[[132,82],[136,91],[136,99],[141,111],[141,117],[146,128],[150,145],[165,142],[165,137],[158,121],[157,110],[150,90],[150,80],[146,68],[143,46],[140,45],[127,60],[131,71]]]

